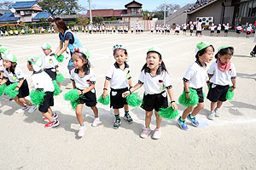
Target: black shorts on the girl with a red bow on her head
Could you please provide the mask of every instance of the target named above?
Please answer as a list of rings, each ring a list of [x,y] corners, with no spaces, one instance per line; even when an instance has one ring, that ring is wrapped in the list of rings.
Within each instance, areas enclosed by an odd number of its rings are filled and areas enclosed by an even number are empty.
[[[94,89],[95,90],[95,89]],[[96,92],[87,92],[86,94],[80,95],[78,99],[79,104],[85,104],[88,107],[96,106]]]

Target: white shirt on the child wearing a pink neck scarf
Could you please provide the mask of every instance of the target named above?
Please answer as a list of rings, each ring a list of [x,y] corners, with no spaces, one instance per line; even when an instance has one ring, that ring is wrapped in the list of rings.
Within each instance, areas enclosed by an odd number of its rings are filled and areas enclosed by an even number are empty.
[[[229,71],[220,71],[217,62],[212,63],[208,70],[208,75],[212,76],[210,82],[221,86],[232,85],[231,79],[236,78],[236,68],[233,63]]]

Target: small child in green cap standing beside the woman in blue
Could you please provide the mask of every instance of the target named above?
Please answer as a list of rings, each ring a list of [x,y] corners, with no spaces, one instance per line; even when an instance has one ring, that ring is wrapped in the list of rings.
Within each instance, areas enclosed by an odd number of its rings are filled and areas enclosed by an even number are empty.
[[[44,71],[49,75],[49,77],[54,81],[56,80],[56,76],[60,74],[59,71],[59,62],[55,58],[55,54],[52,53],[51,45],[49,42],[44,42],[41,46],[44,56]],[[57,82],[60,90],[61,90],[61,83]]]

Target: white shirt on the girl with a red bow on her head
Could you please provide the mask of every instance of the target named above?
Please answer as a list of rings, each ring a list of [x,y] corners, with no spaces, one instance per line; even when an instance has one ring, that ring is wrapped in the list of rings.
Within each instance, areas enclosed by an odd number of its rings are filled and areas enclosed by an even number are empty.
[[[71,71],[71,78],[72,81],[75,82],[76,88],[79,90],[84,90],[90,87],[90,84],[96,83],[96,77],[94,72],[90,69],[90,71],[85,72],[84,77],[79,76],[79,70],[73,68]],[[92,93],[95,93],[95,90],[91,90]]]

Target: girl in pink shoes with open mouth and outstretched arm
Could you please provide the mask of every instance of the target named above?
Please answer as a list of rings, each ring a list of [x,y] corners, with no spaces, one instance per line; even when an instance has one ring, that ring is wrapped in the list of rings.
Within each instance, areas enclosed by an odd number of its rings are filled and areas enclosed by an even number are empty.
[[[130,88],[123,94],[123,97],[136,91],[144,85],[145,92],[143,96],[142,108],[146,111],[145,116],[145,127],[143,127],[143,132],[140,134],[141,138],[147,138],[151,133],[150,122],[151,117],[154,115],[156,117],[156,128],[152,135],[153,139],[160,139],[160,124],[162,118],[158,115],[160,108],[167,108],[167,93],[171,99],[171,105],[174,111],[177,110],[177,105],[174,101],[174,95],[172,92],[172,83],[168,72],[166,71],[166,66],[162,60],[162,53],[160,48],[153,47],[148,49],[146,64],[143,65],[143,69],[137,84]]]

